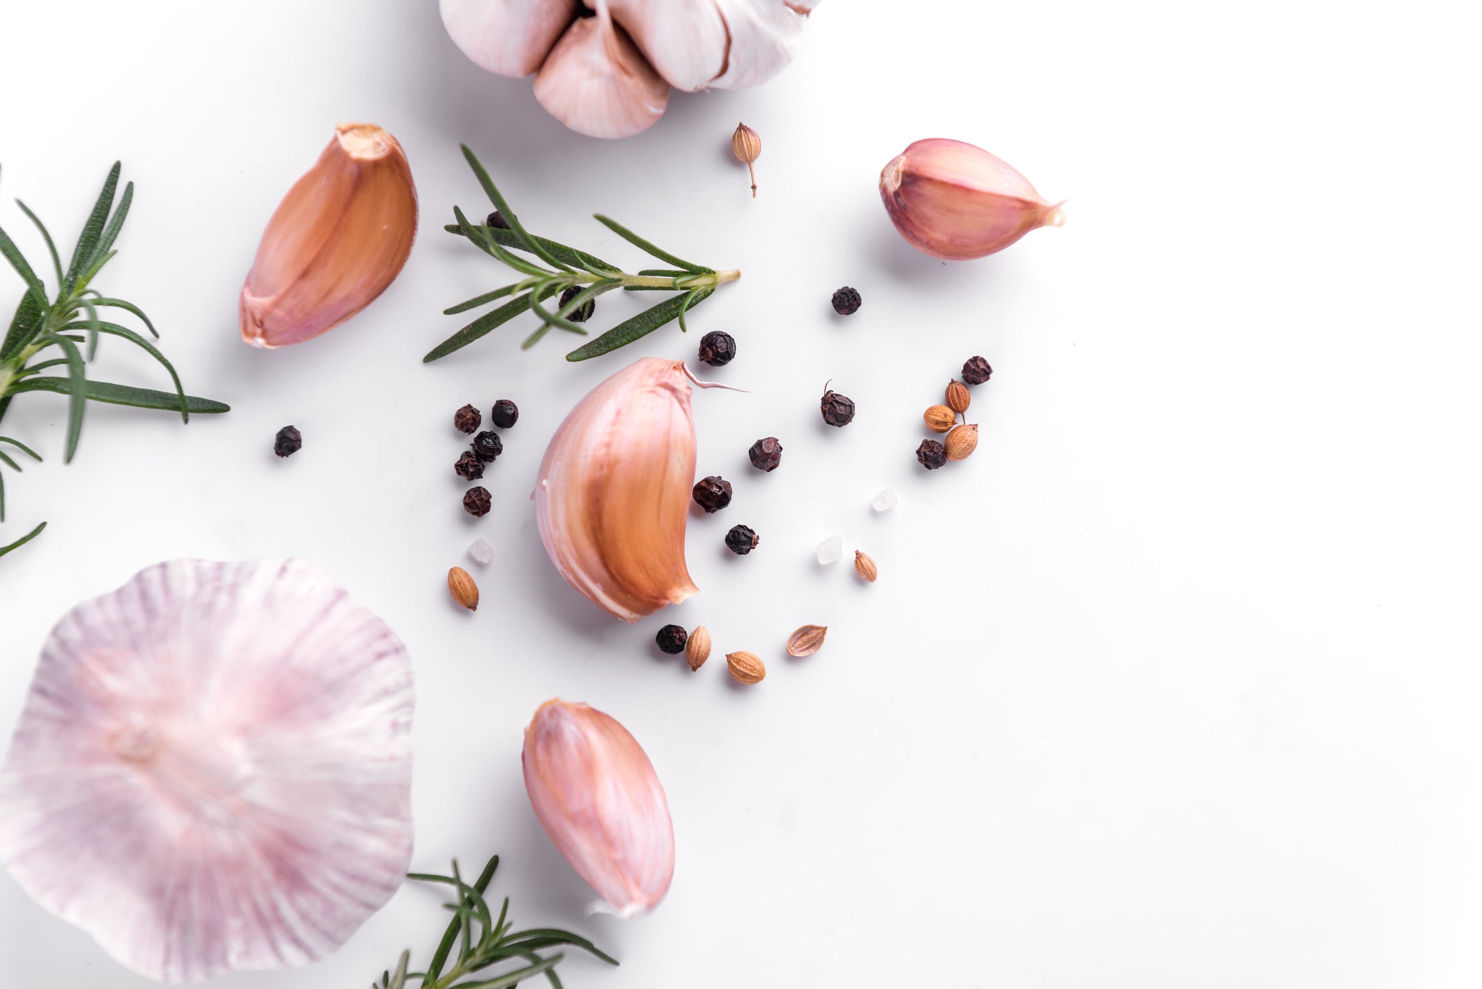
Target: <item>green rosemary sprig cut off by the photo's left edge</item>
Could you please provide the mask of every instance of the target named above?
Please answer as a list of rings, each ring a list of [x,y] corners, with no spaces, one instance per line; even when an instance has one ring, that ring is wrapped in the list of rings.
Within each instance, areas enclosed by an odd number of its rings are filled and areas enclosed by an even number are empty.
[[[144,311],[122,298],[104,295],[90,288],[102,267],[117,254],[113,249],[123,221],[129,215],[129,205],[133,202],[133,182],[123,187],[114,208],[114,193],[119,188],[120,163],[114,162],[108,172],[108,179],[93,203],[83,233],[77,239],[71,262],[62,270],[62,258],[56,254],[52,234],[41,219],[33,214],[25,203],[16,200],[21,212],[36,224],[46,242],[46,252],[50,255],[52,271],[56,274],[56,295],[50,300],[46,294],[46,283],[16,248],[10,236],[0,228],[0,255],[10,262],[21,280],[25,282],[25,295],[16,305],[10,329],[0,343],[0,418],[4,418],[10,408],[10,399],[25,391],[55,391],[68,396],[67,411],[67,452],[62,463],[71,463],[77,452],[77,440],[83,430],[83,412],[87,402],[110,402],[113,405],[133,405],[144,409],[178,409],[182,421],[190,421],[191,412],[225,412],[230,406],[210,399],[197,399],[185,394],[179,375],[165,354],[159,351],[145,337],[127,326],[105,322],[98,317],[99,308],[119,308],[133,314],[144,323],[156,338],[159,332]],[[165,371],[169,372],[175,391],[154,391],[153,388],[135,388],[110,381],[95,381],[87,378],[87,362],[98,353],[99,337],[119,337],[139,347],[154,357]],[[80,344],[87,345],[83,356]],[[61,354],[46,360],[37,360],[46,350],[55,347]],[[56,368],[61,374],[41,374],[49,368]],[[9,436],[0,436],[0,463],[19,472],[21,464],[3,449],[3,445],[19,449],[27,457],[40,461],[41,457],[30,446]],[[4,522],[4,476],[0,472],[0,522]],[[46,528],[46,522],[31,529],[27,535],[0,546],[0,556],[25,546]]]

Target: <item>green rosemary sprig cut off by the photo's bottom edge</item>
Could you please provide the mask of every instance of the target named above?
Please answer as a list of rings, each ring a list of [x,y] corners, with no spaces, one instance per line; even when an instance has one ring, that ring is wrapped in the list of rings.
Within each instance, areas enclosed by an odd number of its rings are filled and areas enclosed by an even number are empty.
[[[372,982],[370,989],[408,989],[416,985],[418,989],[505,989],[534,976],[545,976],[553,989],[562,989],[556,965],[565,955],[541,955],[541,950],[569,945],[596,955],[609,965],[618,961],[605,955],[585,937],[571,931],[557,931],[548,927],[536,927],[516,931],[514,922],[508,919],[510,899],[504,899],[498,919],[489,909],[483,894],[494,881],[494,870],[499,867],[499,856],[495,856],[474,879],[473,885],[462,881],[458,872],[458,860],[453,860],[453,870],[449,876],[436,873],[412,872],[409,879],[419,882],[440,882],[451,885],[458,893],[456,903],[445,903],[443,907],[452,910],[453,918],[443,931],[443,939],[433,952],[433,961],[427,971],[408,971],[412,952],[402,952],[396,970],[381,973],[379,982]],[[456,946],[456,953],[453,947]],[[482,973],[499,962],[525,961],[523,968],[505,971],[499,976],[485,976],[476,982],[459,982],[474,973]],[[421,980],[413,983],[413,980]]]

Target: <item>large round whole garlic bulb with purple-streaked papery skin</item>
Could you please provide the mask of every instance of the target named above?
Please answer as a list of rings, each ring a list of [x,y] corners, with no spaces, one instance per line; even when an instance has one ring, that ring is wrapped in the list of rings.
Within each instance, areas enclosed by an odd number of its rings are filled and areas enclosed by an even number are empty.
[[[159,563],[46,639],[0,859],[142,976],[302,965],[402,882],[411,728],[406,649],[330,578]]]

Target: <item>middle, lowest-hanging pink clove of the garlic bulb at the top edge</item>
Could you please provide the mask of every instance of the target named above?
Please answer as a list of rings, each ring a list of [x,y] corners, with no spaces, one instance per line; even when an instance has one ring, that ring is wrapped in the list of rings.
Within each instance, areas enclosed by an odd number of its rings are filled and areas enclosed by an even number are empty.
[[[545,58],[535,98],[578,133],[625,138],[664,116],[668,83],[597,0],[597,16],[572,24]]]

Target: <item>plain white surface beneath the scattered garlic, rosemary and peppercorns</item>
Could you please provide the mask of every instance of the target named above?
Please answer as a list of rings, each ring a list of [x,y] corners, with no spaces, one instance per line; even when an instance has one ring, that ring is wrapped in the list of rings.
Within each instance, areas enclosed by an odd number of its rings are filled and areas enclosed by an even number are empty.
[[[1466,4],[828,0],[750,92],[676,95],[648,133],[566,132],[529,82],[485,74],[436,4],[406,0],[21,3],[0,12],[0,222],[44,259],[21,196],[68,245],[116,157],[138,182],[101,280],[154,317],[224,417],[22,396],[4,431],[47,463],[6,474],[0,731],[52,623],[178,556],[293,555],[338,575],[416,663],[416,867],[505,856],[517,921],[622,959],[571,989],[679,986],[1475,986],[1482,979],[1473,37]],[[763,142],[760,196],[731,160]],[[354,322],[258,351],[237,291],[273,208],[341,120],[405,144],[422,230]],[[954,136],[1018,166],[1061,230],[941,264],[892,230],[880,166]],[[633,267],[609,212],[744,277],[689,337],[618,356],[522,353],[531,320],[431,366],[440,310],[504,283],[440,231],[486,206],[468,141],[539,233]],[[828,295],[854,285],[852,319]],[[0,308],[19,280],[0,280]],[[599,323],[636,301],[608,295]],[[704,592],[627,627],[548,565],[526,495],[545,440],[640,354],[740,357],[698,393],[692,517]],[[557,334],[559,335],[559,334]],[[971,354],[978,452],[928,474],[920,412]],[[107,341],[96,374],[167,387]],[[855,399],[824,427],[824,381]],[[459,507],[451,415],[513,397],[495,510]],[[273,433],[293,423],[288,461]],[[775,434],[782,467],[745,448]],[[901,506],[877,516],[885,485]],[[732,558],[722,535],[762,535]],[[879,560],[864,586],[814,544]],[[476,615],[445,574],[489,540]],[[700,673],[654,632],[707,624]],[[788,661],[802,623],[823,652]],[[769,664],[734,687],[722,651]],[[585,700],[645,744],[679,859],[649,918],[584,918],[539,830],[520,732]],[[408,887],[333,958],[231,989],[365,986],[425,959],[440,894]],[[0,879],[4,985],[138,989]],[[415,964],[415,961],[413,961]]]

